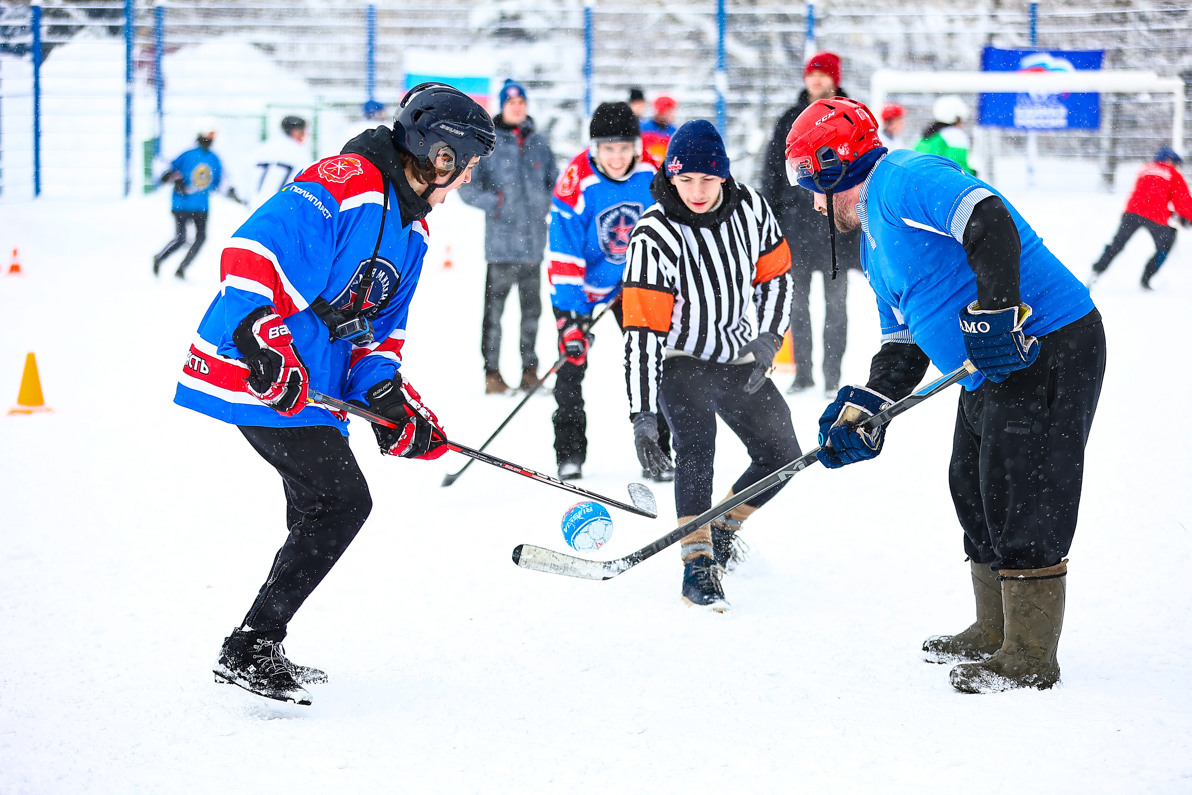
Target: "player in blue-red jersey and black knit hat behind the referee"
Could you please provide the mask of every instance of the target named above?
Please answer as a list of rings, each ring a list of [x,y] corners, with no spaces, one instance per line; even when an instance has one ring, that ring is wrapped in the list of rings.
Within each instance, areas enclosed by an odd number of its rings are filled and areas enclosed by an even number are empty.
[[[554,188],[551,242],[546,253],[551,305],[559,331],[559,368],[552,415],[554,455],[559,478],[583,477],[588,458],[588,415],[583,380],[592,335],[588,327],[598,305],[616,300],[625,277],[629,235],[646,207],[654,203],[650,182],[658,167],[641,148],[638,117],[626,103],[602,103],[588,128],[591,145],[576,155]],[[613,306],[621,323],[621,306]],[[663,423],[662,446],[670,455],[670,431]],[[675,479],[666,466],[654,480]]]

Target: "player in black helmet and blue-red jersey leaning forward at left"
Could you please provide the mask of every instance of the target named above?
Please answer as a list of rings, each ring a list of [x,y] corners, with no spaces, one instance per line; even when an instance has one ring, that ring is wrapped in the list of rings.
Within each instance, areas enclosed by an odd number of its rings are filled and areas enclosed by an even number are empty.
[[[402,378],[410,300],[427,253],[423,217],[492,153],[492,120],[466,94],[423,83],[393,129],[311,164],[237,230],[223,285],[199,325],[175,403],[240,427],[281,476],[290,536],[243,623],[224,639],[217,682],[309,704],[322,671],[294,665],[286,625],[372,508],[346,417],[309,390],[367,404],[383,454],[446,452],[435,415]],[[437,439],[436,439],[437,435]]]

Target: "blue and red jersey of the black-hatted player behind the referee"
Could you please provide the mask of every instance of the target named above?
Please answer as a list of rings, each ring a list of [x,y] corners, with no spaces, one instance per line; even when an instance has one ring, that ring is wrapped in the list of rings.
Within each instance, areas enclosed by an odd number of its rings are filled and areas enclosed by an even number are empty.
[[[620,286],[629,235],[654,203],[650,181],[657,172],[650,156],[642,155],[628,179],[610,180],[592,163],[588,149],[564,169],[551,201],[546,253],[555,309],[591,315]]]

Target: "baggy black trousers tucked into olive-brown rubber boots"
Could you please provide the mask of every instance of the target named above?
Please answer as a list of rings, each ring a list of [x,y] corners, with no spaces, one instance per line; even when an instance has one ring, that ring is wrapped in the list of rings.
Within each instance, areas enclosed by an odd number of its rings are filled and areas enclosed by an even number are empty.
[[[1076,532],[1085,445],[1105,375],[1095,309],[1039,339],[1033,365],[962,391],[949,484],[964,552],[997,569],[1060,563]]]

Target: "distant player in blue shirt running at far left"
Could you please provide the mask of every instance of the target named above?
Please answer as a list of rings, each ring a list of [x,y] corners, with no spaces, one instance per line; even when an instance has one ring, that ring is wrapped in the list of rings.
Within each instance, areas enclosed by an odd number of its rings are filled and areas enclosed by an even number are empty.
[[[194,141],[198,145],[175,157],[169,164],[169,170],[161,175],[162,184],[174,184],[174,195],[169,204],[170,212],[174,213],[174,238],[153,257],[154,275],[161,271],[161,263],[167,256],[186,246],[187,223],[194,225],[194,242],[178,265],[175,277],[186,278],[186,268],[194,261],[194,256],[207,238],[209,194],[223,181],[223,163],[219,162],[219,156],[211,151],[215,139],[213,128],[200,130]],[[230,191],[229,195],[240,200],[235,191]]]

